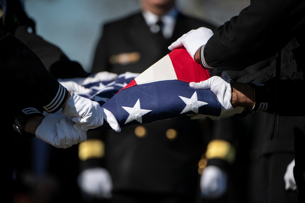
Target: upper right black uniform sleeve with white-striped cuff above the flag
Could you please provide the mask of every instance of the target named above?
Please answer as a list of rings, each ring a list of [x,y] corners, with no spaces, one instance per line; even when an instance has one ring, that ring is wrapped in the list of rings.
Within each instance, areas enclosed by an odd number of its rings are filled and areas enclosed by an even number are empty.
[[[203,65],[241,70],[273,57],[304,32],[304,12],[304,1],[252,0],[239,16],[214,31],[203,49]]]

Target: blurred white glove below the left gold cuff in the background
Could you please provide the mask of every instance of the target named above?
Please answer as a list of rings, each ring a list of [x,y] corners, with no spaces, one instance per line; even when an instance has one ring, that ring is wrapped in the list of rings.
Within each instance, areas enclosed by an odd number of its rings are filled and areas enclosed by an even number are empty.
[[[83,170],[79,177],[79,187],[96,198],[111,198],[113,188],[108,170],[104,168],[91,168]]]

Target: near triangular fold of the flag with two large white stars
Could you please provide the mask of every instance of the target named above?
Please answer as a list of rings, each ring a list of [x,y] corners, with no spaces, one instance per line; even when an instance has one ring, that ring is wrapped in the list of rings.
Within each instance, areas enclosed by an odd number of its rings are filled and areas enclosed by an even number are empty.
[[[187,114],[219,116],[221,104],[210,89],[192,89],[189,82],[210,78],[186,49],[175,49],[135,77],[101,107],[109,110],[120,127],[151,123]],[[104,122],[94,130],[107,130]]]

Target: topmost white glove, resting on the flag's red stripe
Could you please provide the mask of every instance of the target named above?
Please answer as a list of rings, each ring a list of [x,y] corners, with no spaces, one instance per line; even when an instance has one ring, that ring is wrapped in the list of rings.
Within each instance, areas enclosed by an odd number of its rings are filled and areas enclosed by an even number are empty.
[[[179,37],[178,40],[173,42],[168,47],[168,49],[170,51],[173,51],[176,48],[184,46],[186,51],[188,51],[188,54],[190,54],[191,57],[194,59],[196,51],[199,49],[199,47],[206,44],[206,42],[210,39],[210,37],[213,36],[213,34],[214,33],[212,30],[206,27],[200,27],[196,30],[191,30],[188,33],[185,33],[184,35]]]

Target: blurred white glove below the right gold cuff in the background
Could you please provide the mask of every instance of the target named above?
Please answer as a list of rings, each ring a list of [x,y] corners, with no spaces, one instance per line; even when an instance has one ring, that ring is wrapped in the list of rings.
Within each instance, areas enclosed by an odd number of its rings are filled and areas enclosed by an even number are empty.
[[[228,175],[217,166],[206,166],[200,177],[203,198],[220,198],[227,190]]]

